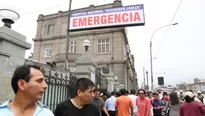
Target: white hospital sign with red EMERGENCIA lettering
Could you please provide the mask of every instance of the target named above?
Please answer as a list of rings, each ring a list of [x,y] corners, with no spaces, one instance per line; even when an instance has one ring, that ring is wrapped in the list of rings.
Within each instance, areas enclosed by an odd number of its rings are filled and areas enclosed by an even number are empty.
[[[143,4],[77,12],[70,15],[70,31],[144,24]]]

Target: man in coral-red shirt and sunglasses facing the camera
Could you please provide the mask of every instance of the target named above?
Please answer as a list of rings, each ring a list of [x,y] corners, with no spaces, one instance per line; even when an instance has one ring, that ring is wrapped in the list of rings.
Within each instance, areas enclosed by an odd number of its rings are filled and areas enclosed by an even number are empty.
[[[138,108],[137,116],[150,116],[150,109],[152,108],[151,101],[149,98],[145,97],[146,92],[144,89],[138,90],[138,97],[136,100],[136,105]]]

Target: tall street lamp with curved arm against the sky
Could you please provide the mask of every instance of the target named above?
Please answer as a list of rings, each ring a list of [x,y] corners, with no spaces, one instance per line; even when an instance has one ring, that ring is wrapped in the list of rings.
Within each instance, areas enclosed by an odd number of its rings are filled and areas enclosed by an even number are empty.
[[[162,26],[162,27],[159,27],[159,28],[157,28],[157,29],[154,31],[154,33],[153,33],[152,36],[151,36],[151,40],[150,40],[151,90],[153,90],[152,40],[153,40],[154,34],[155,34],[158,30],[160,30],[160,29],[162,29],[162,28],[165,28],[165,27],[168,27],[168,26],[174,26],[174,25],[177,25],[177,24],[178,24],[178,23],[173,23],[173,24],[164,25],[164,26]]]

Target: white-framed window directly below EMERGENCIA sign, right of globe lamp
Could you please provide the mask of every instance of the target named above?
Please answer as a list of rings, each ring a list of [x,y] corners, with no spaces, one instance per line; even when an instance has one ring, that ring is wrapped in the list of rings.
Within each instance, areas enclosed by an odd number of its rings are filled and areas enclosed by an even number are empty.
[[[109,53],[110,52],[110,40],[109,38],[98,40],[98,53]]]

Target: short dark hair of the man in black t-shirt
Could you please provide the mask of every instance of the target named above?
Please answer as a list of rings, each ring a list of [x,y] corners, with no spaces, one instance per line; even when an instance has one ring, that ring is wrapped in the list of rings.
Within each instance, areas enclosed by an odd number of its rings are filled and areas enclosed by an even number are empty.
[[[88,78],[80,78],[76,82],[75,96],[77,96],[77,91],[80,90],[85,92],[89,87],[94,87],[95,84]]]

